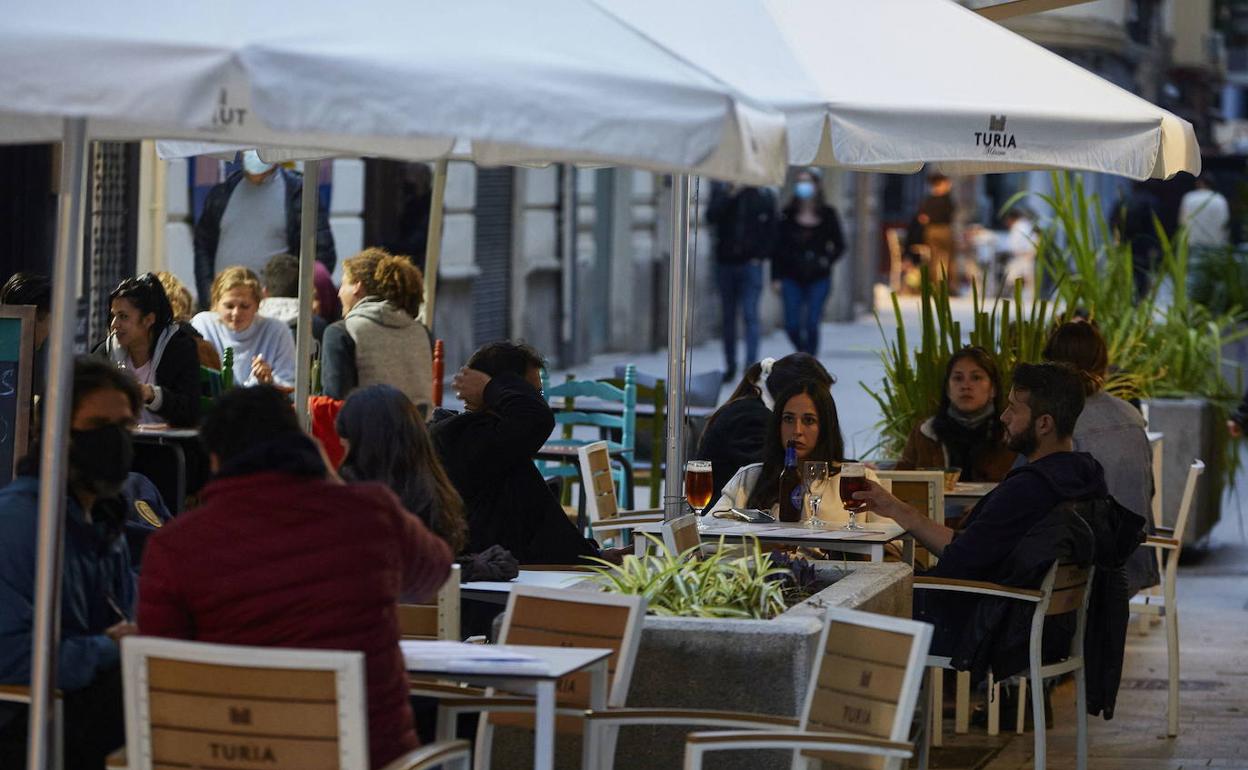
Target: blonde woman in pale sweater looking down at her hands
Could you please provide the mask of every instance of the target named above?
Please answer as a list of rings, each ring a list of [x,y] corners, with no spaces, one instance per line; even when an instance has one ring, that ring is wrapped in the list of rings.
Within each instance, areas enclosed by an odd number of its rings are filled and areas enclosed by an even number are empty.
[[[212,281],[212,309],[197,313],[191,326],[218,353],[233,348],[235,384],[295,387],[295,341],[276,318],[258,314],[260,278],[246,267],[227,267]]]

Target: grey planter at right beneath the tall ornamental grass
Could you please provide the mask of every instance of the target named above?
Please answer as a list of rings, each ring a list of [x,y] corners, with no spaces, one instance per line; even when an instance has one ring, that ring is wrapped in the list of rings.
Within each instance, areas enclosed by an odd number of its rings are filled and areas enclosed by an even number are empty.
[[[1206,470],[1196,485],[1196,499],[1183,533],[1183,544],[1199,542],[1222,518],[1222,454],[1217,432],[1226,431],[1213,404],[1203,398],[1154,398],[1148,404],[1148,428],[1166,434],[1162,449],[1162,522],[1173,527],[1183,499],[1187,470],[1193,459]]]

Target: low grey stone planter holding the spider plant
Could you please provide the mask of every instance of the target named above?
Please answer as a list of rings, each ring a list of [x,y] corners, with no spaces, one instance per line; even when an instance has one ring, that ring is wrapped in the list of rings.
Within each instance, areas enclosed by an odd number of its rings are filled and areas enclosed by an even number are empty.
[[[910,616],[912,575],[901,563],[824,562],[829,588],[771,620],[659,618],[649,615],[629,689],[629,706],[720,709],[794,716],[804,703],[826,607]],[[678,726],[623,728],[619,770],[680,768],[684,736]],[[497,730],[494,768],[528,768],[532,739]],[[789,768],[785,751],[734,751],[714,768]],[[580,740],[559,735],[557,766],[580,766]]]

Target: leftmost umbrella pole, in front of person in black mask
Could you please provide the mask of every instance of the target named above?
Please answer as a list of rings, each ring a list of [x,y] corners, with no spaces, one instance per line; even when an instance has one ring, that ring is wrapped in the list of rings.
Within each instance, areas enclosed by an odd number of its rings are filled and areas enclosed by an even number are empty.
[[[60,766],[61,746],[52,700],[61,631],[61,557],[74,389],[74,331],[82,275],[82,206],[86,200],[86,119],[65,120],[61,191],[52,266],[52,328],[49,334],[47,398],[40,441],[39,535],[35,545],[35,607],[30,650],[29,770]],[[135,417],[139,417],[137,414]],[[55,758],[56,761],[50,761]]]

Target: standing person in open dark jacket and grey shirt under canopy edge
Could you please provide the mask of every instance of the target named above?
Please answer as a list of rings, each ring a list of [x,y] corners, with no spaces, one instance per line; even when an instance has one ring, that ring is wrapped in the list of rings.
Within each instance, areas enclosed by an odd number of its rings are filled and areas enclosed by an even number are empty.
[[[195,223],[195,287],[207,309],[212,277],[223,265],[261,272],[280,253],[300,256],[303,176],[266,163],[255,150],[242,154],[242,167],[208,191]],[[329,215],[317,210],[316,258],[332,275],[338,261]]]

